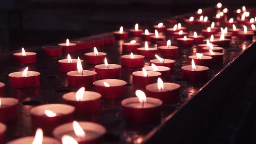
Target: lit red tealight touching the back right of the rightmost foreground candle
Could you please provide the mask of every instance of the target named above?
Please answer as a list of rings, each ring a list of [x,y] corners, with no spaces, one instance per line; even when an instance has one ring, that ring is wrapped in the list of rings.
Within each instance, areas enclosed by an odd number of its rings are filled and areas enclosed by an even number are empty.
[[[181,85],[163,82],[161,78],[158,78],[158,83],[146,86],[148,97],[158,98],[163,101],[164,104],[177,103],[180,98],[180,88]]]

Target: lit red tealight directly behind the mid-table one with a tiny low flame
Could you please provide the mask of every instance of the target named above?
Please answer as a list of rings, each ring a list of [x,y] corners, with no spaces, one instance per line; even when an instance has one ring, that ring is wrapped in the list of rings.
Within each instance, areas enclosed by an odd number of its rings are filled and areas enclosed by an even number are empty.
[[[96,77],[99,79],[115,79],[121,76],[121,65],[108,64],[105,58],[105,64],[95,65]]]

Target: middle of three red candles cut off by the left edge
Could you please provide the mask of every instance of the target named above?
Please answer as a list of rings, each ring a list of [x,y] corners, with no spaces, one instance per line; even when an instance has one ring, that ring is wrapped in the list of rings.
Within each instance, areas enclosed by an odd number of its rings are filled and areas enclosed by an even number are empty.
[[[17,118],[18,103],[19,101],[15,98],[0,98],[0,122]]]

